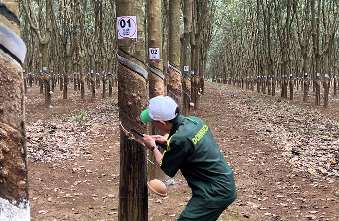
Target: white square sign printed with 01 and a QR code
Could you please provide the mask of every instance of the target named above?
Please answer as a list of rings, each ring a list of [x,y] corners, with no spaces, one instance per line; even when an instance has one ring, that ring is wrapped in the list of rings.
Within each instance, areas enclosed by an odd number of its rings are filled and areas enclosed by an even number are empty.
[[[138,38],[137,16],[118,17],[118,38]]]

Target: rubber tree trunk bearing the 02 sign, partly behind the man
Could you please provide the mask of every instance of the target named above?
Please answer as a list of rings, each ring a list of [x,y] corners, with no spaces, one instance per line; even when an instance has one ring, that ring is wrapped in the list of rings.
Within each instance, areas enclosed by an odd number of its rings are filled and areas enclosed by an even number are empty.
[[[150,99],[164,95],[164,68],[163,68],[163,41],[162,41],[162,17],[161,0],[147,0],[147,29],[149,46],[149,90]],[[162,134],[156,128],[154,122],[150,122],[150,133]],[[163,152],[163,150],[161,150]],[[149,151],[149,159],[154,164],[148,164],[148,179],[164,180],[168,176],[160,169],[156,159]]]

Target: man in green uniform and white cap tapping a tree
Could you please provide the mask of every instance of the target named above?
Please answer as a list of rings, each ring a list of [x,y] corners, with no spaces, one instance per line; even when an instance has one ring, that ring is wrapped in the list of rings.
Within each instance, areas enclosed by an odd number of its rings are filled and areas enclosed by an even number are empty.
[[[150,100],[141,120],[154,120],[156,127],[169,138],[144,134],[144,143],[155,155],[160,168],[170,177],[180,169],[192,189],[192,198],[178,221],[216,221],[235,201],[233,172],[215,143],[208,125],[198,117],[185,117],[170,97]],[[156,141],[167,144],[162,154]]]

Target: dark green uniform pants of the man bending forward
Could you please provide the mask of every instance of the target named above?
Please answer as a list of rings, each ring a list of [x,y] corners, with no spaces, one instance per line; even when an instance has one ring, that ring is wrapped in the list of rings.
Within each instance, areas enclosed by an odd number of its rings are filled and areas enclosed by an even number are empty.
[[[205,208],[187,205],[177,221],[216,221],[226,208]]]

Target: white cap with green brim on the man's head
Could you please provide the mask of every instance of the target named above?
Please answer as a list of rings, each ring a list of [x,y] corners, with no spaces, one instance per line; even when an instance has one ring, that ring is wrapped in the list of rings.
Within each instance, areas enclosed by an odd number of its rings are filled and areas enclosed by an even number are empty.
[[[150,100],[149,109],[144,110],[140,114],[140,118],[144,122],[150,122],[152,120],[171,120],[175,118],[175,110],[177,104],[170,97],[157,96]]]

